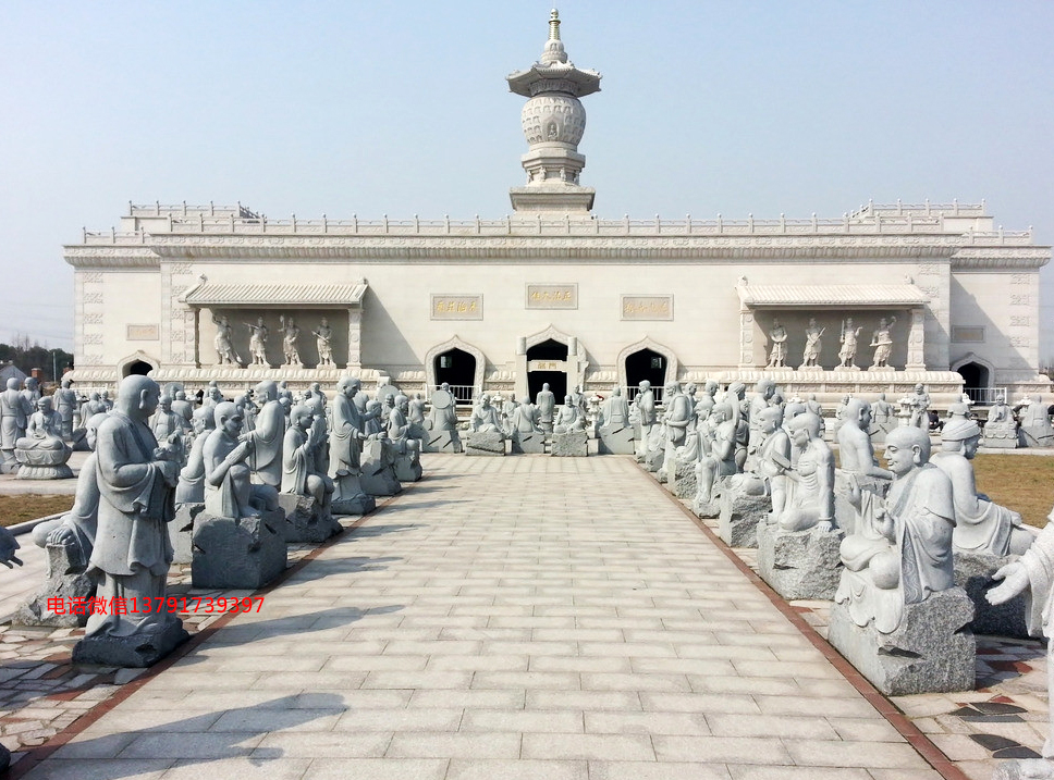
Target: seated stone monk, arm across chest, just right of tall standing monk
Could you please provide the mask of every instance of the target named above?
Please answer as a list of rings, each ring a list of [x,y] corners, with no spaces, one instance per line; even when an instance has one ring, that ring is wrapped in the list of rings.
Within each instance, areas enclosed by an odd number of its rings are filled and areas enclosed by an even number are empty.
[[[254,485],[245,462],[253,438],[242,434],[244,419],[236,405],[222,401],[212,408],[216,430],[201,450],[205,465],[205,511],[220,518],[260,517],[278,508],[278,493],[270,485]]]

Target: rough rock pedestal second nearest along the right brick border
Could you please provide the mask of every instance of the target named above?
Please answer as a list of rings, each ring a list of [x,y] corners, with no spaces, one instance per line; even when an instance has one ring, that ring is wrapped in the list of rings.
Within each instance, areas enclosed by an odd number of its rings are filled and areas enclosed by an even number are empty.
[[[787,601],[831,601],[838,590],[842,529],[784,531],[775,523],[758,524],[758,573]]]

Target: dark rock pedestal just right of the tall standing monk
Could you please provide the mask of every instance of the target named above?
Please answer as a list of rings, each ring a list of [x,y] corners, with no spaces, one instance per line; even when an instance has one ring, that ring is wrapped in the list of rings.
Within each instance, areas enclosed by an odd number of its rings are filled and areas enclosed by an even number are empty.
[[[255,591],[285,571],[281,509],[262,517],[218,518],[201,513],[194,529],[194,587]]]

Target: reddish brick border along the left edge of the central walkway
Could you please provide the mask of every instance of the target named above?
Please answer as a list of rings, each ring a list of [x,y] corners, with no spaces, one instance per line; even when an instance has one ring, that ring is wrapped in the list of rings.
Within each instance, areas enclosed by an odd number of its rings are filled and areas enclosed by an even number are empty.
[[[421,480],[420,482],[426,482],[426,481],[427,479]],[[407,491],[414,490],[414,487],[420,484],[420,482],[412,482],[408,485],[405,485],[402,492],[406,493]],[[285,571],[283,571],[281,574],[279,574],[274,580],[270,582],[270,584],[268,584],[266,587],[261,587],[258,591],[255,591],[255,593],[268,594],[271,591],[273,591],[275,587],[280,586],[283,582],[285,582],[285,580],[292,577],[295,572],[299,571],[305,566],[307,566],[308,562],[317,558],[323,549],[326,549],[330,545],[335,544],[344,533],[353,531],[354,529],[358,528],[370,518],[375,517],[378,511],[387,507],[395,498],[396,496],[390,496],[389,498],[387,498],[385,500],[377,505],[373,511],[368,512],[367,515],[363,515],[360,518],[357,518],[350,525],[345,525],[344,531],[342,533],[330,536],[328,540],[326,540],[320,545],[318,545],[318,547],[316,547],[310,553],[308,553],[303,558],[301,558],[296,564],[294,564]],[[19,780],[19,778],[22,778],[25,775],[27,775],[29,771],[35,769],[38,764],[47,760],[51,756],[51,754],[54,753],[60,747],[62,747],[62,745],[66,744],[74,736],[76,736],[86,728],[91,726],[91,723],[96,722],[103,715],[106,715],[111,709],[117,707],[124,699],[126,699],[133,693],[135,693],[140,688],[143,688],[143,685],[145,685],[149,680],[152,680],[162,671],[171,667],[173,664],[180,660],[180,658],[183,658],[184,656],[188,655],[191,651],[196,649],[198,645],[200,645],[207,639],[212,636],[212,634],[215,634],[217,631],[219,631],[229,622],[231,622],[235,617],[237,617],[237,612],[228,612],[226,615],[220,616],[208,628],[203,629],[201,631],[194,634],[189,640],[187,640],[182,645],[176,647],[174,651],[172,651],[172,653],[170,653],[163,659],[161,659],[160,661],[151,666],[149,669],[147,669],[145,673],[140,674],[134,680],[122,685],[112,696],[110,696],[109,698],[102,702],[99,702],[98,705],[85,711],[84,715],[82,715],[79,718],[73,721],[65,729],[57,733],[45,744],[40,745],[39,747],[32,748],[24,758],[22,758],[17,764],[15,764],[9,770],[3,772],[4,780]]]

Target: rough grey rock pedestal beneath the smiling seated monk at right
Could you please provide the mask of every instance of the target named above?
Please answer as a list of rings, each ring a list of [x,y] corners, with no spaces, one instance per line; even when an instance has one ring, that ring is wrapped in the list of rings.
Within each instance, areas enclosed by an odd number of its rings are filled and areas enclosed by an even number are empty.
[[[886,696],[973,690],[977,643],[968,624],[973,605],[961,587],[933,593],[904,608],[888,634],[853,622],[844,604],[831,608],[828,642]]]

